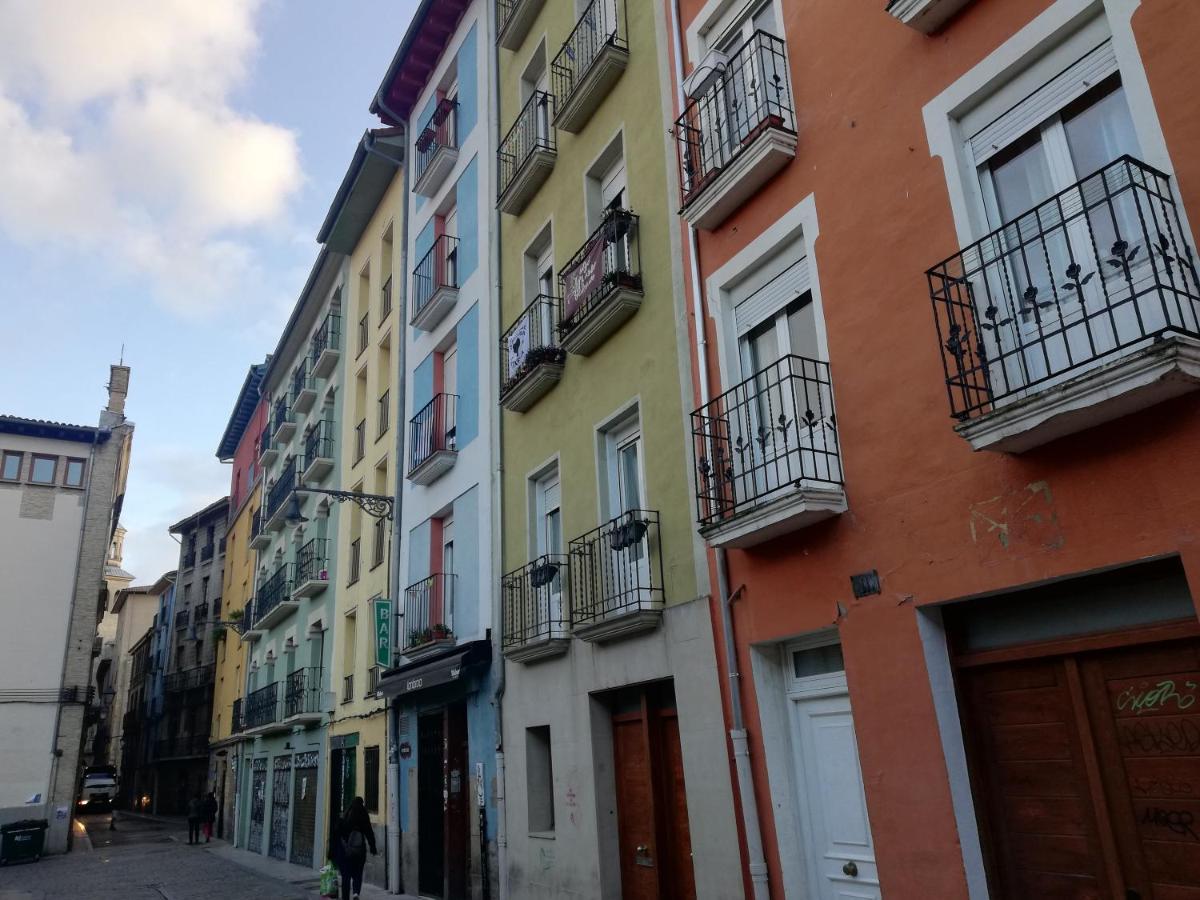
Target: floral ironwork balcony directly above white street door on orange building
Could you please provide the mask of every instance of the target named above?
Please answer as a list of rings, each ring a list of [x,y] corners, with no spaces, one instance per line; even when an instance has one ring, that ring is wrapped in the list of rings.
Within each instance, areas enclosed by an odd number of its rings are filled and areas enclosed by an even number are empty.
[[[752,547],[846,510],[829,364],[784,356],[691,414],[696,517]]]

